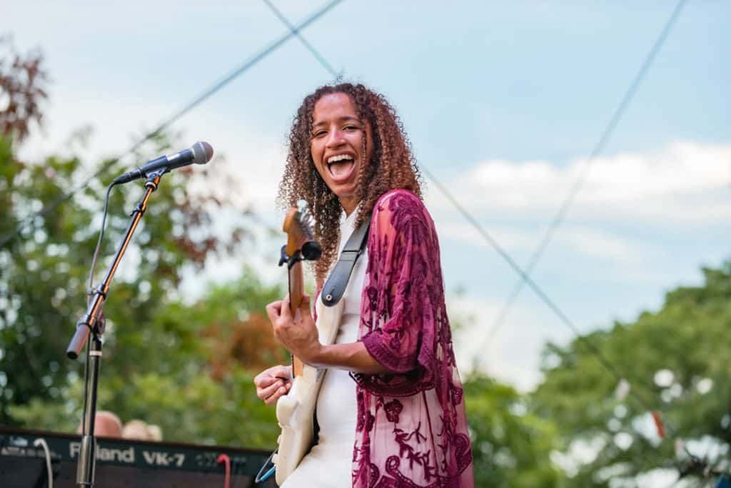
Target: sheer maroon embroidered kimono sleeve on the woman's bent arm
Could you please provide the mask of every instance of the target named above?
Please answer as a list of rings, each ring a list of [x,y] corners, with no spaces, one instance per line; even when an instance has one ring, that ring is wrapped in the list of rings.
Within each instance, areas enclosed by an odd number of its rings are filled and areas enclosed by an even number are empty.
[[[410,192],[393,191],[376,204],[363,294],[360,340],[387,370],[406,377],[356,375],[356,380],[366,387],[431,384],[444,289],[433,221]]]

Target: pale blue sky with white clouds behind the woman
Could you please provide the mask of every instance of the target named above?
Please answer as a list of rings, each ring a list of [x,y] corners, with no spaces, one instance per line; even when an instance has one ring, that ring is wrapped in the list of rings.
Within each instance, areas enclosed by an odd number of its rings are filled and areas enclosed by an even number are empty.
[[[325,2],[274,4],[300,23]],[[588,160],[674,7],[346,0],[303,36],[346,80],[387,96],[419,164],[521,267],[584,175],[533,279],[590,332],[657,310],[667,291],[702,283],[702,266],[731,257],[731,4],[683,7],[602,152]],[[52,80],[44,133],[21,155],[62,151],[75,129],[91,125],[92,167],[123,155],[287,33],[261,1],[11,0],[2,11],[0,33],[21,51],[42,50]],[[173,130],[224,154],[211,164],[225,164],[240,180],[238,197],[276,228],[289,124],[303,96],[331,78],[291,38]],[[121,171],[143,161],[122,162]],[[462,369],[477,357],[491,375],[531,389],[545,343],[566,343],[572,330],[524,289],[490,334],[519,276],[428,179],[425,202],[450,313],[474,318],[458,334]],[[234,261],[279,279],[278,253],[267,243]],[[230,279],[239,269],[216,262],[207,275]]]

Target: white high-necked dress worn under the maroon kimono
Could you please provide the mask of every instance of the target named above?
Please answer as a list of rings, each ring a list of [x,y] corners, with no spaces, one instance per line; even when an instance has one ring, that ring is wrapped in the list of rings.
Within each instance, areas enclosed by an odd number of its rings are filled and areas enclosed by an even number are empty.
[[[354,211],[341,223],[338,256],[355,224]],[[354,343],[360,322],[360,300],[363,281],[366,278],[368,253],[360,255],[348,286],[341,300],[345,300],[343,318],[336,343]],[[318,307],[324,307],[318,300]],[[352,454],[355,444],[355,381],[346,370],[330,368],[317,397],[317,423],[319,441],[304,457],[297,469],[289,475],[281,488],[322,487],[344,488],[352,486]]]

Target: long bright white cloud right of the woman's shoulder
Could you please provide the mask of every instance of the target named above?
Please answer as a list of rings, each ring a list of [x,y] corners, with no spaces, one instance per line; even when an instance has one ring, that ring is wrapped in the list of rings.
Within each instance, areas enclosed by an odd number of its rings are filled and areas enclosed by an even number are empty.
[[[586,159],[483,161],[447,183],[462,202],[501,218],[550,218],[586,170]],[[674,142],[648,153],[595,159],[569,218],[708,224],[731,218],[731,146]],[[450,203],[433,200],[442,210]]]

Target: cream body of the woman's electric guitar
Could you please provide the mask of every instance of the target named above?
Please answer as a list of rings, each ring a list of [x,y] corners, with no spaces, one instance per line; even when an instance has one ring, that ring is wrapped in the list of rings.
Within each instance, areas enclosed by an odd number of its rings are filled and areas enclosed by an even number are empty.
[[[335,342],[343,315],[344,300],[333,307],[325,307],[317,300],[317,330],[324,345]],[[276,403],[276,418],[281,427],[277,442],[279,448],[272,462],[276,465],[276,482],[281,485],[298,467],[312,447],[314,414],[325,370],[303,365],[302,374],[295,376],[289,393]]]

